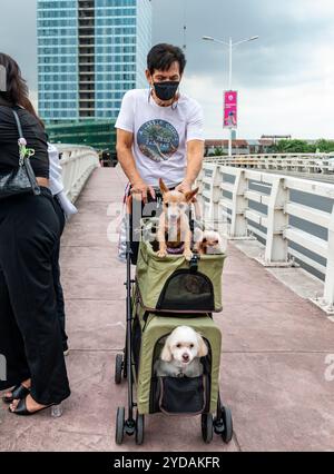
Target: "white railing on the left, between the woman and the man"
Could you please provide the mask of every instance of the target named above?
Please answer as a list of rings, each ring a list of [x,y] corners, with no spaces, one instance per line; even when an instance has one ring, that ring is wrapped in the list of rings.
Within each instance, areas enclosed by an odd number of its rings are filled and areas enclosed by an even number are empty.
[[[99,166],[97,151],[80,145],[56,145],[61,154],[62,180],[67,197],[75,203],[87,179]]]

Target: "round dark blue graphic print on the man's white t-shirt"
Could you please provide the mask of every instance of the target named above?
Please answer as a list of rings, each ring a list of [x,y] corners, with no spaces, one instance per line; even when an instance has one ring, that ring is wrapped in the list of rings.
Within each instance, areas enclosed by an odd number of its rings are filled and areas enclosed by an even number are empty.
[[[166,161],[179,147],[175,127],[166,120],[149,120],[139,128],[137,144],[146,157],[154,161]]]

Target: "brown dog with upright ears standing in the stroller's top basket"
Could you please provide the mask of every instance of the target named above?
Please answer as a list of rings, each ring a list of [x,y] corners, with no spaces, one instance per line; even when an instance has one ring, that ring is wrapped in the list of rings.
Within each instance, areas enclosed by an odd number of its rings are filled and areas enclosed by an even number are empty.
[[[193,257],[190,249],[191,231],[187,210],[198,192],[198,188],[186,194],[176,190],[170,191],[161,178],[159,186],[163,192],[164,209],[157,231],[158,256],[163,258],[167,254],[183,254],[187,260],[190,260]]]

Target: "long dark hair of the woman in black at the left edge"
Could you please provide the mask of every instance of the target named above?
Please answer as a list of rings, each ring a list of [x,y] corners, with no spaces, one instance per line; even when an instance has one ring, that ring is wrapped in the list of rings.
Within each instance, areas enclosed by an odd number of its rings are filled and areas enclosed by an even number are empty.
[[[6,71],[6,90],[0,90],[0,99],[3,99],[10,106],[21,106],[30,112],[45,128],[43,122],[38,117],[30,99],[27,81],[22,78],[21,69],[17,61],[10,56],[0,52],[0,67]]]

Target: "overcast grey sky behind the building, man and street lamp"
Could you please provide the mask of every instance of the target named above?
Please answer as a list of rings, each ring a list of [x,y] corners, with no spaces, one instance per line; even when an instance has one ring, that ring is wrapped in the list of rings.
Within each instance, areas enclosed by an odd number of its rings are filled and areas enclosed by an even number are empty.
[[[0,50],[20,63],[35,100],[36,3],[0,0]],[[239,138],[334,138],[333,0],[153,0],[153,10],[154,43],[183,46],[187,26],[181,90],[204,107],[207,138],[227,138],[222,110],[228,53],[203,41],[204,34],[225,41],[259,36],[233,55]]]

